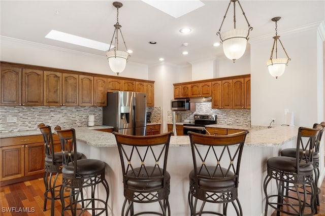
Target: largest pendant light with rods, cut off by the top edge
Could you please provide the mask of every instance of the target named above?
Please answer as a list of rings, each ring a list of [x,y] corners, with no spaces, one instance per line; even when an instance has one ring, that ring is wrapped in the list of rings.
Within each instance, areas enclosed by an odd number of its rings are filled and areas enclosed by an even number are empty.
[[[227,15],[230,5],[232,3],[234,4],[234,29],[227,30],[227,31],[220,33],[222,24],[225,20],[225,17]],[[241,28],[237,29],[236,28],[236,3],[238,3],[238,5],[245,17],[245,20],[248,25],[248,29],[241,29]],[[238,0],[230,0],[228,8],[225,11],[225,15],[223,16],[221,26],[217,32],[217,35],[219,35],[220,40],[221,40],[223,52],[227,58],[232,59],[233,62],[235,62],[236,59],[239,59],[240,57],[242,57],[244,55],[245,50],[246,50],[247,41],[249,39],[248,38],[249,31],[252,29],[253,29],[253,27],[250,26],[250,24],[247,20],[247,17],[245,15],[243,8],[240,5],[239,1]],[[221,38],[221,35],[222,35],[223,39]]]

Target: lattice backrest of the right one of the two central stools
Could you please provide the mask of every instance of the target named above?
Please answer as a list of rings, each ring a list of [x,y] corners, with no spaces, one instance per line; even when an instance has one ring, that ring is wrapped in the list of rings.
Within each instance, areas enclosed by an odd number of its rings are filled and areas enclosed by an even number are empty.
[[[221,182],[234,179],[238,187],[240,161],[247,133],[248,131],[230,135],[204,135],[188,132],[196,184],[199,183],[198,178],[213,178],[214,181]],[[213,172],[208,166],[214,167]]]

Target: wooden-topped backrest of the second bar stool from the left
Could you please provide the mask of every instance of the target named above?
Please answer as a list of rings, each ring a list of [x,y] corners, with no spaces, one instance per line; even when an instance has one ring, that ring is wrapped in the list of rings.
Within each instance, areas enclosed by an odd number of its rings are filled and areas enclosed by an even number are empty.
[[[73,169],[74,177],[76,178],[77,157],[74,157],[74,155],[77,155],[76,131],[73,128],[61,130],[61,127],[59,126],[56,126],[54,130],[61,142],[63,167]]]

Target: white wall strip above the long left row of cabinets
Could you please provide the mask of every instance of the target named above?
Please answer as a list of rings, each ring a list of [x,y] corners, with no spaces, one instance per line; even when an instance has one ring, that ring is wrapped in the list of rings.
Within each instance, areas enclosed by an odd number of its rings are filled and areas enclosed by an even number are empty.
[[[103,52],[103,56],[90,55],[6,37],[1,37],[0,42],[0,59],[2,61],[116,76],[109,67],[105,52]],[[130,60],[132,60],[132,56]],[[125,70],[119,76],[147,80],[148,66],[128,62]]]

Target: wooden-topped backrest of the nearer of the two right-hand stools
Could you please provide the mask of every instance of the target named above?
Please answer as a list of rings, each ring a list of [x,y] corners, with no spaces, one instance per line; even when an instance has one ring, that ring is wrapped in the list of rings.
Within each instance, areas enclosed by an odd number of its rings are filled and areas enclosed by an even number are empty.
[[[300,127],[297,137],[296,165],[299,174],[300,165],[311,164],[319,132],[323,127],[318,124],[314,128]],[[302,152],[302,153],[301,153]]]

